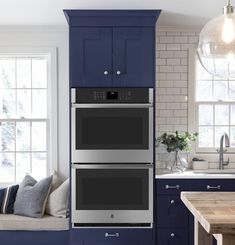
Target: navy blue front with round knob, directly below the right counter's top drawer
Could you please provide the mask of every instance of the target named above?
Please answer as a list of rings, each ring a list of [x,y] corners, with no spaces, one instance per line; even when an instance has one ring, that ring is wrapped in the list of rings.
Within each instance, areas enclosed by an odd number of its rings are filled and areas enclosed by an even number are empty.
[[[157,196],[158,227],[188,227],[188,210],[179,196]]]

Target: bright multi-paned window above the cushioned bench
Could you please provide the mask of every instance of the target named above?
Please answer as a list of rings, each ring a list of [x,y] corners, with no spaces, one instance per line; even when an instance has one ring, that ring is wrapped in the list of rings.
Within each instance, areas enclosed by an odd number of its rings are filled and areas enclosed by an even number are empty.
[[[51,64],[40,52],[0,54],[0,183],[20,182],[26,173],[39,180],[53,168]]]

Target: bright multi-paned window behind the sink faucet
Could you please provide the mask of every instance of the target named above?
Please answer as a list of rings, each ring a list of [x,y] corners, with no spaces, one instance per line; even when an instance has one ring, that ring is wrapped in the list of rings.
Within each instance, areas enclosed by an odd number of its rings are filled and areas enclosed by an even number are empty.
[[[191,58],[195,73],[189,85],[189,126],[194,125],[191,130],[199,133],[196,153],[216,153],[224,132],[230,138],[229,151],[234,152],[235,80],[213,77],[196,55]]]

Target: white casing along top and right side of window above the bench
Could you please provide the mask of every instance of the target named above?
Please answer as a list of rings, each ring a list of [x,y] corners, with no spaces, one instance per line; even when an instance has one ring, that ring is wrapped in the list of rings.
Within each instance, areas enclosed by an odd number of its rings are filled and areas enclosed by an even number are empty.
[[[58,171],[58,86],[56,47],[6,47],[0,46],[0,57],[46,57],[47,58],[47,172],[49,176]],[[25,120],[24,120],[25,121]],[[1,183],[9,185],[12,183]]]

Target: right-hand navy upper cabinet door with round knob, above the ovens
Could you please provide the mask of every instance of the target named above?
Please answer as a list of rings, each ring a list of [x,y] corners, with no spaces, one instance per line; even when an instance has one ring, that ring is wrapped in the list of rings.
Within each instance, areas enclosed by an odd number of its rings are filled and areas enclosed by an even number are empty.
[[[154,40],[153,28],[113,28],[114,86],[154,86]]]

